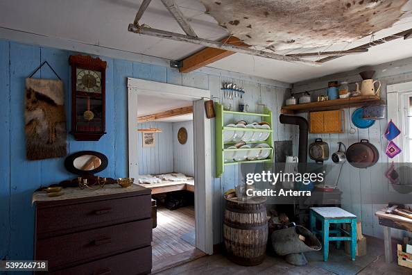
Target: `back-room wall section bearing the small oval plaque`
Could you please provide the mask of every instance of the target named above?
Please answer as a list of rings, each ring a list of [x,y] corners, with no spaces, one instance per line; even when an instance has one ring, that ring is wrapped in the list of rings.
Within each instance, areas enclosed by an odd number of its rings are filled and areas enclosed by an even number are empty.
[[[186,128],[187,142],[180,144],[178,131]],[[193,121],[173,123],[173,167],[176,173],[194,176],[194,133]],[[195,183],[196,184],[196,183]]]

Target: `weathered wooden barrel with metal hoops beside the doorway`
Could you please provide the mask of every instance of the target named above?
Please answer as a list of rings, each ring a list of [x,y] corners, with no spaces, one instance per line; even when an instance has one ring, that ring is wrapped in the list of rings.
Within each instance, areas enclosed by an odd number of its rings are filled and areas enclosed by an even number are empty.
[[[223,238],[228,258],[238,265],[263,262],[268,242],[266,199],[226,199]]]

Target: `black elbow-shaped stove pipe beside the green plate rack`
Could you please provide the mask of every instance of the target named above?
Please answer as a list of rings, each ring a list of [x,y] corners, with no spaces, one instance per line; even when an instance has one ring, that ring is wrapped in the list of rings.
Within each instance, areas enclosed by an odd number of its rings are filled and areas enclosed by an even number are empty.
[[[304,117],[293,115],[280,115],[279,121],[282,124],[293,124],[299,126],[299,163],[307,163],[307,140],[309,125]]]

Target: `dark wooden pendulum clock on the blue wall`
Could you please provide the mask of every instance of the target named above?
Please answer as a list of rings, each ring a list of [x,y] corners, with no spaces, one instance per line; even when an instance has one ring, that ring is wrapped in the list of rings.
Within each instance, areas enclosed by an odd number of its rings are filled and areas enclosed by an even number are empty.
[[[105,134],[107,63],[92,56],[70,56],[71,133],[76,140],[99,140]]]

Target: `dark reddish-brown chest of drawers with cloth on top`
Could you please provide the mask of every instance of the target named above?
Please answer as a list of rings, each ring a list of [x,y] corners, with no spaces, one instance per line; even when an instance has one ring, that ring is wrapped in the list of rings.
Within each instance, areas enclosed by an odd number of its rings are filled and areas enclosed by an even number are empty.
[[[50,274],[151,272],[151,190],[106,185],[64,192],[33,195],[35,260],[48,260]]]

